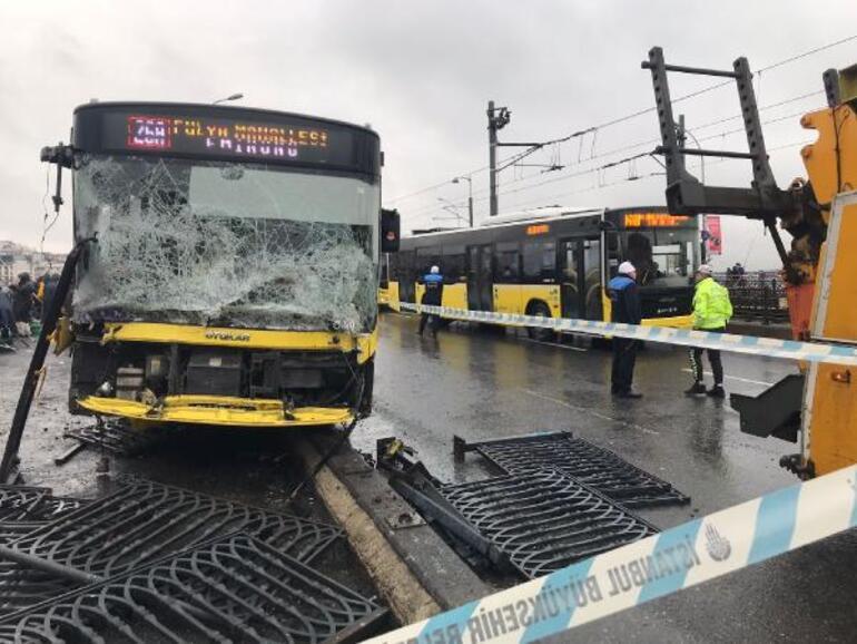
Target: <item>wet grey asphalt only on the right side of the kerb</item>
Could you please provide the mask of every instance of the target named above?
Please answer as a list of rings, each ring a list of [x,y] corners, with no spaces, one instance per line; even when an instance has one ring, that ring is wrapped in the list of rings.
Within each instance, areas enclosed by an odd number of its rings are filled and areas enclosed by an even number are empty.
[[[383,315],[375,413],[353,443],[397,436],[439,478],[490,476],[480,457],[452,459],[452,435],[470,440],[571,430],[608,447],[692,497],[689,506],[641,511],[671,527],[795,484],[778,466],[794,443],[740,433],[728,402],[682,396],[687,352],[649,345],[638,358],[642,400],[609,394],[610,353],[551,347],[520,333],[467,325],[416,335],[416,318]],[[758,393],[796,368],[723,358],[729,391]],[[708,377],[710,383],[710,374]],[[583,626],[555,642],[855,642],[857,531],[829,538],[723,579]]]

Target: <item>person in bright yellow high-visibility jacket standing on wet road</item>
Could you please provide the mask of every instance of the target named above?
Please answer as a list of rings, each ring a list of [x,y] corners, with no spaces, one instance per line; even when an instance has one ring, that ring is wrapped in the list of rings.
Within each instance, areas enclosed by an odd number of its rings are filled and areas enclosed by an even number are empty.
[[[693,329],[722,333],[732,316],[732,303],[729,301],[729,291],[718,284],[711,276],[712,270],[708,264],[697,269],[693,280]],[[708,361],[715,374],[715,384],[706,390],[702,383],[702,351],[708,351]],[[690,369],[693,373],[693,384],[684,393],[687,396],[701,396],[707,393],[713,398],[726,398],[723,390],[723,363],[720,360],[720,351],[716,349],[702,349],[695,347],[690,350]]]

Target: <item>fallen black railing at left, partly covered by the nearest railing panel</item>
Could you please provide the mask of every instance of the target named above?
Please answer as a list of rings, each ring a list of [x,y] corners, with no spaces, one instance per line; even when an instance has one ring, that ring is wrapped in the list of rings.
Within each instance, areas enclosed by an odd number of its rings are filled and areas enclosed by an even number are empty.
[[[58,570],[108,578],[235,533],[308,563],[342,536],[337,527],[292,515],[155,481],[120,480],[114,494],[52,520],[22,521],[17,537],[14,521],[6,523],[10,534],[0,546],[6,552],[0,560],[0,613],[60,595],[81,582]],[[32,490],[23,494],[41,494]],[[9,498],[14,499],[11,494]]]

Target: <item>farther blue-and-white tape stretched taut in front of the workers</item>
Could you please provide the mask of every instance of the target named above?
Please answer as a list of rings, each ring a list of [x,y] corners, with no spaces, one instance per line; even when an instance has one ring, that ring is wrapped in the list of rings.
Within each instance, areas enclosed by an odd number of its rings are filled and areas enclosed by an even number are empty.
[[[710,331],[672,329],[669,326],[640,326],[637,324],[600,322],[597,320],[541,318],[516,313],[494,313],[493,311],[466,311],[464,309],[430,306],[427,304],[412,304],[410,302],[400,302],[400,305],[402,309],[417,313],[428,313],[440,315],[441,318],[469,322],[486,322],[508,326],[533,326],[551,331],[631,338],[633,340],[647,340],[683,347],[701,347],[703,349],[717,349],[768,358],[857,365],[857,348],[821,342],[798,342],[796,340],[777,340],[775,338],[736,335],[733,333],[712,333]]]

